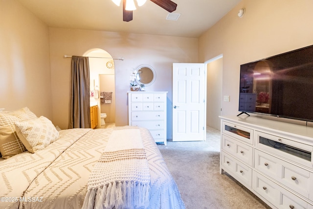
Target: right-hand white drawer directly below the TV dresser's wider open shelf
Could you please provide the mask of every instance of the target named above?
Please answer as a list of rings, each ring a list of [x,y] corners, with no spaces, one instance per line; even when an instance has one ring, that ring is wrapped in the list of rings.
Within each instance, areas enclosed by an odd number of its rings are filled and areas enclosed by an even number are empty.
[[[313,200],[313,173],[286,161],[255,150],[255,168],[302,196]]]

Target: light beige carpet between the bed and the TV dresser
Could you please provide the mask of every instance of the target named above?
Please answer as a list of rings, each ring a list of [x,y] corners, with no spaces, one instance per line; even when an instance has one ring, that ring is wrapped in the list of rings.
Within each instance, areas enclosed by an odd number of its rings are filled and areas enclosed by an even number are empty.
[[[228,174],[220,174],[220,132],[207,127],[206,141],[158,144],[186,209],[270,209]]]

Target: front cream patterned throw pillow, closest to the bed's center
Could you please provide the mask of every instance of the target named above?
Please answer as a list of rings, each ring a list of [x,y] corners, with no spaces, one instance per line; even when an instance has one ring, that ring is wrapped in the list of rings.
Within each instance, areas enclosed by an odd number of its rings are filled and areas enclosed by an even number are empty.
[[[22,143],[31,153],[44,149],[59,138],[59,132],[44,116],[32,120],[16,121],[15,128]]]

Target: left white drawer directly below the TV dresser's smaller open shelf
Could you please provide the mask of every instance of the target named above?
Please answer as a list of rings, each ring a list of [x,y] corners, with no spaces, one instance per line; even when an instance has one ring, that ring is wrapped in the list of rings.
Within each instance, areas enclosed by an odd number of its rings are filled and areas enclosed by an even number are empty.
[[[253,166],[253,148],[251,146],[222,135],[222,147],[224,151],[234,155],[244,163]]]

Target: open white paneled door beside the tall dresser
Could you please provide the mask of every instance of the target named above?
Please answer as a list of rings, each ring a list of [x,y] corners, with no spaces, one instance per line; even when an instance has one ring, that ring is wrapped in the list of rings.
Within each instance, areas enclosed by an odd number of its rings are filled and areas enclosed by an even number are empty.
[[[205,74],[202,63],[173,64],[173,141],[205,140]]]

